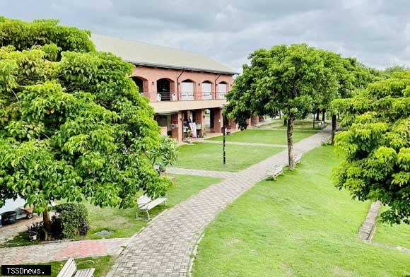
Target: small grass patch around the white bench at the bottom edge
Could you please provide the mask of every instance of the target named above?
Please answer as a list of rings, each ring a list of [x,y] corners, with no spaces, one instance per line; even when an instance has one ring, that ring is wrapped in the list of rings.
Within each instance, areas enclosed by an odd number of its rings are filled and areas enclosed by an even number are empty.
[[[84,259],[75,259],[76,263],[81,263],[82,261],[94,261],[94,264],[90,262],[78,264],[77,269],[89,269],[93,267],[94,277],[104,277],[107,275],[108,271],[112,264],[114,264],[114,257],[111,256],[103,256],[103,257],[93,257],[93,258],[84,258]],[[52,277],[56,277],[59,271],[63,268],[66,261],[52,261],[51,263],[44,263],[44,264],[51,264],[52,266]],[[27,276],[26,276],[27,277]]]

